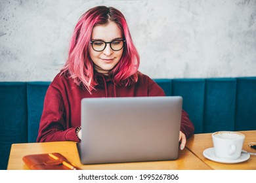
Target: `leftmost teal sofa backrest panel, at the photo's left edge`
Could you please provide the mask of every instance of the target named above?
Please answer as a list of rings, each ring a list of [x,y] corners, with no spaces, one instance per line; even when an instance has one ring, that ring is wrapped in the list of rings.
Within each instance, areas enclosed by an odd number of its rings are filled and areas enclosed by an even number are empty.
[[[25,82],[0,82],[0,169],[6,169],[12,143],[27,142]]]

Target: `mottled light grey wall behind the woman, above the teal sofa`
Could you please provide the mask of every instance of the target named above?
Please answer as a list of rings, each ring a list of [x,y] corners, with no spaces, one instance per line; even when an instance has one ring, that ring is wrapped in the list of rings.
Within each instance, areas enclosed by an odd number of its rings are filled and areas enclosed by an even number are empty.
[[[123,12],[152,78],[256,76],[256,0],[0,0],[0,81],[53,80],[96,5]]]

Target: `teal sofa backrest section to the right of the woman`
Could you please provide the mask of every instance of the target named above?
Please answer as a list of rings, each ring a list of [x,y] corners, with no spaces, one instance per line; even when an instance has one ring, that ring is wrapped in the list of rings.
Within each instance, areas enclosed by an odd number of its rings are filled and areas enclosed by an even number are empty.
[[[156,79],[168,95],[181,95],[195,133],[256,129],[256,77]]]

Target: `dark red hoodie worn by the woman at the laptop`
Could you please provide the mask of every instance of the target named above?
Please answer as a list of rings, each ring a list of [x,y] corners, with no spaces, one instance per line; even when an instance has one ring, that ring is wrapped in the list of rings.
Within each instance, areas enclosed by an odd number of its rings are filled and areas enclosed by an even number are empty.
[[[81,99],[85,97],[165,96],[154,80],[142,73],[138,76],[138,81],[130,86],[117,86],[110,76],[97,73],[98,85],[90,94],[85,88],[77,86],[72,78],[59,73],[45,95],[37,142],[79,142],[75,128],[81,125]],[[194,134],[194,125],[184,110],[181,116],[181,131],[186,138]]]

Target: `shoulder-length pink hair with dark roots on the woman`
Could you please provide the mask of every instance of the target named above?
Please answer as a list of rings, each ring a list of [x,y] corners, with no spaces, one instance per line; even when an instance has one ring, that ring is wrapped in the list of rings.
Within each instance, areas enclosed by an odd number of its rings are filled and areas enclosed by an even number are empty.
[[[140,58],[131,39],[125,17],[113,7],[91,8],[79,18],[75,25],[68,60],[62,68],[62,74],[69,73],[77,85],[82,84],[90,93],[97,85],[93,75],[93,61],[89,56],[91,33],[96,25],[106,25],[109,22],[115,22],[119,26],[125,39],[123,55],[109,75],[113,76],[114,83],[118,85],[128,86],[138,80]]]

